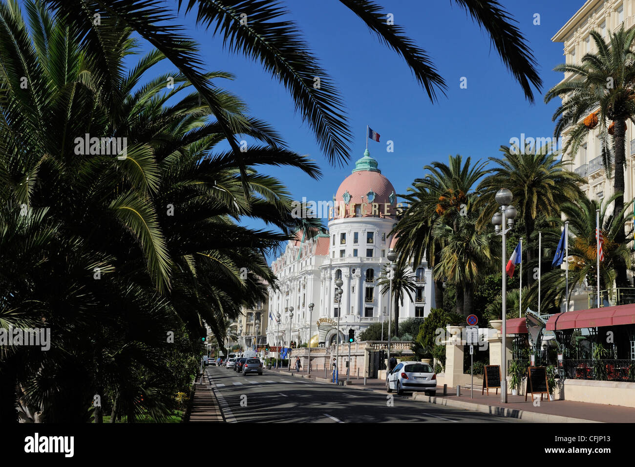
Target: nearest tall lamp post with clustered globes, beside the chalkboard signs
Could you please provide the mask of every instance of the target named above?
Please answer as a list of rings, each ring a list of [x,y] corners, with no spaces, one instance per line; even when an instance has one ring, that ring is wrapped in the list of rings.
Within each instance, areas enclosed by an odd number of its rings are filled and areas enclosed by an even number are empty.
[[[494,230],[502,237],[502,316],[503,325],[500,330],[502,334],[502,357],[501,363],[503,367],[502,379],[500,381],[500,402],[507,403],[507,278],[505,278],[505,256],[507,256],[506,235],[514,225],[516,219],[516,208],[510,205],[512,202],[512,192],[507,188],[501,188],[496,193],[496,202],[500,205],[500,213],[497,212],[491,217],[491,223]],[[505,220],[507,222],[505,222]],[[505,228],[507,224],[507,228]]]

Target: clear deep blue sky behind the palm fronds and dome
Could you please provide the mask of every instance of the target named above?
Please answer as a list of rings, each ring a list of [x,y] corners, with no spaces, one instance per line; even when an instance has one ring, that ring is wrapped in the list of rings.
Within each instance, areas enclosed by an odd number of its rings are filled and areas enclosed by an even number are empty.
[[[405,193],[413,179],[424,175],[424,165],[446,162],[449,154],[486,159],[498,156],[498,148],[521,133],[552,136],[551,116],[559,100],[545,105],[542,97],[562,78],[552,68],[564,57],[563,44],[552,43],[551,37],[584,4],[582,0],[502,2],[518,21],[538,62],[544,86],[536,91],[533,105],[525,100],[520,86],[491,48],[486,33],[455,4],[418,0],[379,3],[427,51],[446,79],[448,95],[438,104],[431,104],[403,60],[380,44],[337,0],[286,2],[291,18],[337,83],[347,107],[354,140],[351,161],[344,168],[328,165],[282,85],[259,64],[222,50],[211,33],[196,28],[194,15],[184,20],[189,34],[199,41],[207,68],[236,74],[234,81],[217,83],[243,98],[251,114],[272,123],[290,149],[321,163],[324,175],[318,181],[294,169],[269,172],[282,179],[296,199],[330,200],[363,154],[366,125],[381,135],[380,143],[368,143],[369,149],[398,193]],[[540,15],[540,25],[533,24],[535,13]],[[169,69],[168,65],[157,67],[157,71]],[[467,89],[459,86],[462,77],[467,78]],[[394,142],[394,152],[386,151],[387,140]]]

